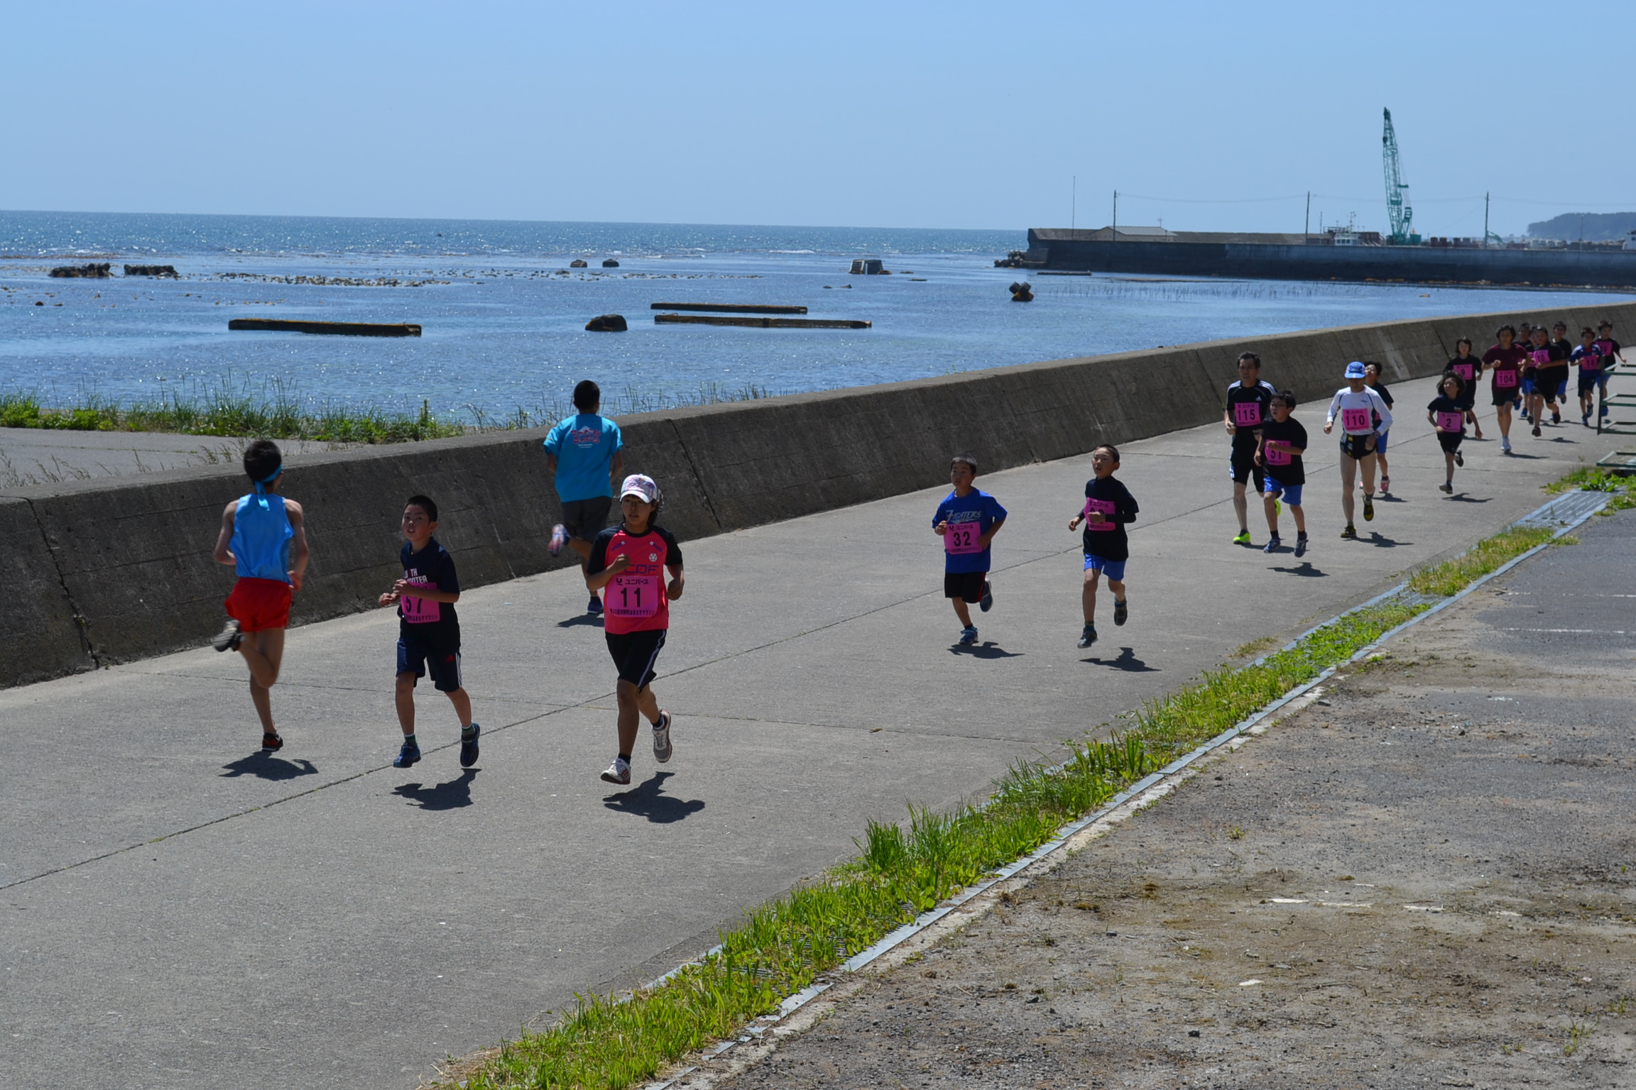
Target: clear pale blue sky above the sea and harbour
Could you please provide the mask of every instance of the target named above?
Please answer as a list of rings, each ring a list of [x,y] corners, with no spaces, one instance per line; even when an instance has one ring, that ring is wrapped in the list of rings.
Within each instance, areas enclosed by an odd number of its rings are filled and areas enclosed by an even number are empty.
[[[1636,209],[1628,2],[0,11],[8,209],[1381,229],[1382,106],[1425,234]]]

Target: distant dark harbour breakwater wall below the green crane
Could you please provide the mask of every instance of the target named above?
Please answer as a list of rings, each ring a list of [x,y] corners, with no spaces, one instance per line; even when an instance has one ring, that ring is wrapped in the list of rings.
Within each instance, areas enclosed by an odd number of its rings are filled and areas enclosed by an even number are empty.
[[[1029,229],[1029,266],[1163,276],[1636,288],[1636,252],[1104,242]]]

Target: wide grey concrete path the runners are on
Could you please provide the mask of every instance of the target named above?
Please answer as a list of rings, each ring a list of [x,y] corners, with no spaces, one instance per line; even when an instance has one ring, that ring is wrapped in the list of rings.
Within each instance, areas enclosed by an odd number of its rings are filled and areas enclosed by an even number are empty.
[[[576,989],[710,946],[743,907],[847,855],[865,817],[980,793],[1242,644],[1467,547],[1607,453],[1577,425],[1520,438],[1510,459],[1471,443],[1449,500],[1417,412],[1430,381],[1394,392],[1400,498],[1342,543],[1335,474],[1314,469],[1304,562],[1229,544],[1217,427],[1129,444],[1132,614],[1116,629],[1104,613],[1090,654],[1073,646],[1067,529],[1088,458],[980,480],[1011,520],[977,650],[954,647],[941,596],[942,490],[684,543],[656,683],[676,758],[656,771],[638,752],[627,791],[597,778],[612,670],[571,572],[463,598],[484,724],[465,773],[429,690],[427,758],[389,766],[386,611],[291,632],[276,757],[257,748],[242,663],[208,649],[0,693],[0,1082],[412,1087]],[[1317,431],[1322,405],[1297,417]]]

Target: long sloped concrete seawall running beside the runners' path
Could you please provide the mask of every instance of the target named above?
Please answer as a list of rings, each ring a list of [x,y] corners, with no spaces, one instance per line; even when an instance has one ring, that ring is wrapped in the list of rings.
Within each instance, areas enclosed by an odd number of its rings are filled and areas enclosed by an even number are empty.
[[[628,471],[659,480],[664,525],[690,541],[946,482],[955,451],[988,472],[1220,420],[1245,350],[1260,353],[1263,377],[1312,402],[1342,384],[1350,360],[1379,360],[1389,382],[1422,377],[1441,371],[1461,335],[1481,353],[1502,322],[1561,319],[1577,332],[1603,317],[1636,328],[1636,302],[1052,360],[643,413],[620,427]],[[312,562],[291,623],[375,608],[398,575],[398,523],[416,492],[438,502],[438,539],[468,588],[569,565],[571,554],[546,554],[558,502],[543,438],[496,431],[293,461],[285,479],[306,508]],[[0,614],[0,685],[203,646],[232,585],[232,569],[211,561],[221,511],[242,492],[244,474],[221,466],[0,494],[16,564]]]

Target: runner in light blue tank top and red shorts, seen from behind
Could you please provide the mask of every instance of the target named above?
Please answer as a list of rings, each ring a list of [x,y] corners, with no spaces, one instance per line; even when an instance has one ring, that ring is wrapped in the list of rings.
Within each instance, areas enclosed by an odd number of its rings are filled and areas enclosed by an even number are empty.
[[[262,748],[281,748],[273,726],[270,690],[278,681],[290,628],[290,598],[306,575],[306,515],[294,500],[278,495],[285,456],[272,440],[244,448],[244,472],[255,485],[221,513],[216,562],[232,564],[239,580],[227,595],[227,624],[211,646],[237,650],[250,668],[250,703],[262,721]]]

